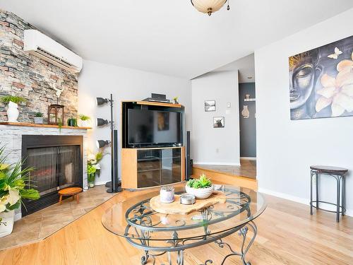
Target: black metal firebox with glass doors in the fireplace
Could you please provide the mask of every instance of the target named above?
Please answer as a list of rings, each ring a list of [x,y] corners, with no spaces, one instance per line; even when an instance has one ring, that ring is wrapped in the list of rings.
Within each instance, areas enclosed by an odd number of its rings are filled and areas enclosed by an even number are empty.
[[[83,136],[23,135],[22,158],[40,192],[37,201],[23,200],[22,216],[56,204],[59,189],[83,187]]]

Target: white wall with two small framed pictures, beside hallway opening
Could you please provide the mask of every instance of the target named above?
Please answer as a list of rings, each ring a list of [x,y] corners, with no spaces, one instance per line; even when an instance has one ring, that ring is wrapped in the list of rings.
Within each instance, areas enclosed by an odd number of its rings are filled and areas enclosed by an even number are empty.
[[[194,163],[239,165],[238,72],[207,73],[191,83]],[[205,100],[216,101],[215,112],[205,112]],[[225,128],[213,128],[213,117],[225,117]]]

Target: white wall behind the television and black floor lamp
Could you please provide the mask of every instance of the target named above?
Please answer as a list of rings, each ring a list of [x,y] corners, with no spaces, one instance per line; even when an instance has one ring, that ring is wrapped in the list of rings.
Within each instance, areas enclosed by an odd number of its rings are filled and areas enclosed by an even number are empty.
[[[94,61],[83,61],[83,71],[78,80],[78,112],[92,117],[93,123],[97,117],[110,119],[109,105],[97,107],[95,104],[96,97],[109,98],[110,93],[113,93],[115,100],[114,119],[119,134],[121,133],[121,100],[143,100],[148,98],[150,93],[166,94],[169,99],[179,96],[179,102],[185,106],[186,129],[191,129],[191,81],[186,78],[174,78]],[[110,139],[109,126],[100,128],[93,126],[93,129],[89,131],[88,148],[90,151],[97,152],[95,141],[99,139]],[[102,160],[102,175],[96,179],[96,183],[105,183],[111,178],[110,149],[107,148],[106,151],[108,155],[105,155]],[[119,172],[120,169],[119,164]]]

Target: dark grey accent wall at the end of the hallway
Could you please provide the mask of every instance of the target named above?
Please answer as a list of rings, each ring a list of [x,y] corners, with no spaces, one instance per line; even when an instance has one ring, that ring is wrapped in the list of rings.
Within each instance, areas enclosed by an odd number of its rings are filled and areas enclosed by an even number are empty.
[[[256,101],[244,102],[245,95],[256,98],[255,83],[239,83],[239,128],[240,128],[240,156],[256,157]],[[250,115],[245,119],[241,115],[244,105],[248,106]]]

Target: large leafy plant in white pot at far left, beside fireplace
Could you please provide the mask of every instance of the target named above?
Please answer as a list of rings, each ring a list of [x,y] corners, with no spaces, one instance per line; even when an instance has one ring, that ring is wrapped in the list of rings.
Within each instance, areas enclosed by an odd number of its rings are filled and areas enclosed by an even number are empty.
[[[22,169],[23,161],[6,165],[4,146],[0,148],[0,237],[11,234],[13,229],[14,211],[20,207],[22,199],[36,200],[40,194],[33,187],[29,173],[32,167]]]

